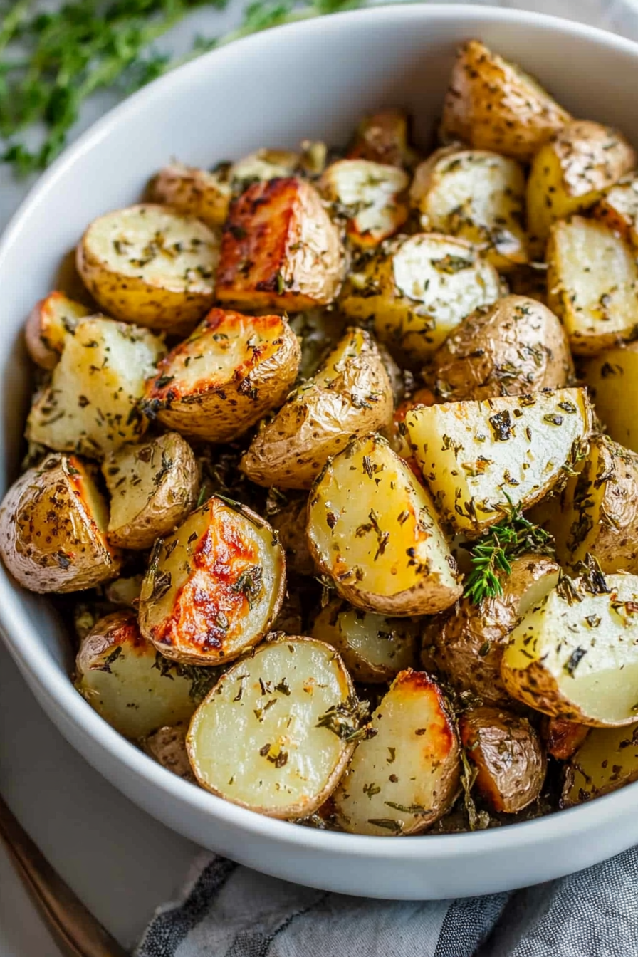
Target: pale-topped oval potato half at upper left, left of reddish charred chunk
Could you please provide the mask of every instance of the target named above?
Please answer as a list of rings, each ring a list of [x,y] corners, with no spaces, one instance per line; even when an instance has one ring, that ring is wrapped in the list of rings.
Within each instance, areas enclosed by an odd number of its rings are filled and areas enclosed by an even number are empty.
[[[186,335],[210,308],[219,235],[194,216],[142,203],[94,220],[77,272],[110,316]]]

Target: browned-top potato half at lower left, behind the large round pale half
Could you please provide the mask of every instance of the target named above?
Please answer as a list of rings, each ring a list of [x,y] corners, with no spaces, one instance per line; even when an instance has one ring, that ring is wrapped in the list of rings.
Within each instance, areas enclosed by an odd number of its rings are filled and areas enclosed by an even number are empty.
[[[167,661],[162,665],[140,634],[137,615],[114,612],[100,618],[80,644],[75,684],[105,722],[136,740],[164,724],[188,721],[203,697],[197,695],[200,676]]]

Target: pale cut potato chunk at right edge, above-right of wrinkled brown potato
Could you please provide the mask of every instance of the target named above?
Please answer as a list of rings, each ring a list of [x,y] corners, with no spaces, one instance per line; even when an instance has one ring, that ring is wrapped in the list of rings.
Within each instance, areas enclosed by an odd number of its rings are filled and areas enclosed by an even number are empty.
[[[552,227],[547,297],[572,352],[596,355],[635,338],[638,265],[632,248],[604,223],[573,216]]]

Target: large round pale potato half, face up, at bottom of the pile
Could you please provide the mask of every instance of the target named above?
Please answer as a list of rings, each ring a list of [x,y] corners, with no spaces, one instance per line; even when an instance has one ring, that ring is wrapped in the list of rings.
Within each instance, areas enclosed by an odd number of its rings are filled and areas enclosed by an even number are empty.
[[[190,723],[199,784],[270,817],[304,817],[335,789],[352,753],[352,682],[334,648],[283,638],[237,662]],[[341,711],[346,718],[341,718]]]

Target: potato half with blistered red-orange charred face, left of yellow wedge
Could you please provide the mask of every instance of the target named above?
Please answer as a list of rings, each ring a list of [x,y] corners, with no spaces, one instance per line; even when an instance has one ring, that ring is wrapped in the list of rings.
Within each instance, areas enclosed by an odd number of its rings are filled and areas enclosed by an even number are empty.
[[[185,664],[221,664],[271,629],[286,590],[271,526],[212,496],[159,539],[140,594],[142,634]]]

